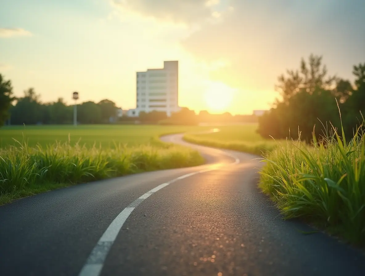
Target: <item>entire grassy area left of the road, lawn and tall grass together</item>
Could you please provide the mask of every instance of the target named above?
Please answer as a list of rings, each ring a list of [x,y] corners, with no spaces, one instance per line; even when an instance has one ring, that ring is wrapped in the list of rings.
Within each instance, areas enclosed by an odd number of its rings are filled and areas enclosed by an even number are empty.
[[[72,184],[203,164],[197,151],[162,143],[158,136],[206,129],[209,127],[3,127],[0,129],[0,205]]]

